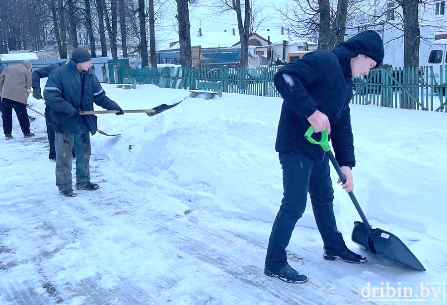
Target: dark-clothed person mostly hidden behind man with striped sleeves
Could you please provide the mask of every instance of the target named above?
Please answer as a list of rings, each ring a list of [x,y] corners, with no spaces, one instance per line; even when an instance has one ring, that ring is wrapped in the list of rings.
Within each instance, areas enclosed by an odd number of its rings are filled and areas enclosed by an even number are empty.
[[[34,70],[31,73],[32,76],[32,84],[33,87],[33,98],[36,100],[42,99],[42,91],[40,89],[40,79],[46,78],[50,76],[50,73],[55,70],[56,68],[59,68],[61,65],[64,65],[65,61],[52,63],[50,65],[47,65],[43,68]],[[47,135],[48,135],[48,142],[50,143],[50,153],[48,155],[48,159],[56,162],[56,149],[54,148],[54,130],[53,126],[51,125],[51,111],[50,106],[45,106],[45,123],[47,124]],[[74,154],[74,148],[73,148],[73,158],[76,157]]]

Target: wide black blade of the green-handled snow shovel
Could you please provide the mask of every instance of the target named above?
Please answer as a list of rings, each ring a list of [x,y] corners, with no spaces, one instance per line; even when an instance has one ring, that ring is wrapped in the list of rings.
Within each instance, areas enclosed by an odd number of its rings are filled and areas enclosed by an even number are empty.
[[[405,268],[426,271],[421,262],[394,234],[382,229],[373,229],[373,235],[368,232],[363,222],[354,222],[351,239],[360,247],[378,254]]]

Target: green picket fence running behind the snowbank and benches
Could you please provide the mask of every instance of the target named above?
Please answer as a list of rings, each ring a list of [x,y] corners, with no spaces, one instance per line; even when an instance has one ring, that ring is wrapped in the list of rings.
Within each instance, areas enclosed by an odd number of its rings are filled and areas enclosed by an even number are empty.
[[[221,81],[223,92],[278,97],[273,76],[280,67],[259,68],[127,68],[121,77],[136,78],[139,84],[161,88],[197,88],[197,81]],[[353,104],[444,111],[446,66],[420,68],[381,67],[368,76],[355,78]],[[336,89],[336,88],[335,88]]]

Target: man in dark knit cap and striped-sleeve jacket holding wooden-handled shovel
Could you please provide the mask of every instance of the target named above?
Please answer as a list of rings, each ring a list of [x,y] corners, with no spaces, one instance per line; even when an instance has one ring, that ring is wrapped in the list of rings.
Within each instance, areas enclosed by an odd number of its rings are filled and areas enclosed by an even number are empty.
[[[76,189],[96,190],[90,182],[90,135],[98,128],[96,116],[80,115],[92,111],[93,103],[107,110],[123,110],[109,99],[99,80],[88,73],[90,54],[81,48],[73,50],[71,60],[51,72],[45,84],[45,104],[50,106],[51,124],[55,131],[56,185],[61,195],[74,197],[72,184],[72,149],[76,153]]]

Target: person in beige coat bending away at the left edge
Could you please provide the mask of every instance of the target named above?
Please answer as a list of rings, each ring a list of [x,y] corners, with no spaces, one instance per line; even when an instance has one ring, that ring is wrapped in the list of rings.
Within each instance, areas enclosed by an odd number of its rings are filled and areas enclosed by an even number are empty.
[[[1,113],[3,119],[3,132],[6,140],[12,138],[12,109],[14,109],[24,138],[34,136],[29,130],[26,104],[28,90],[31,89],[30,61],[6,67],[0,74]]]

